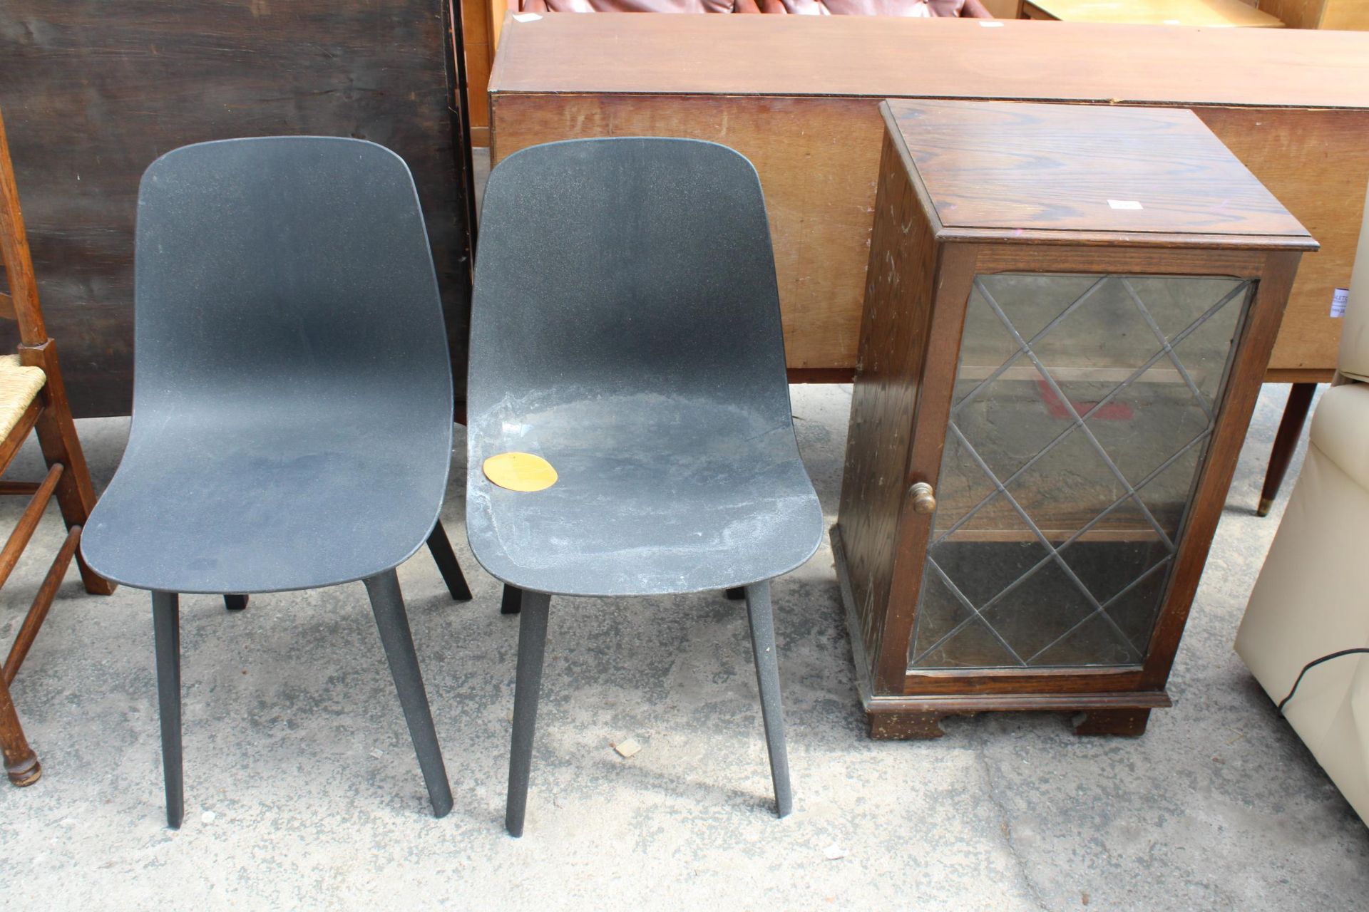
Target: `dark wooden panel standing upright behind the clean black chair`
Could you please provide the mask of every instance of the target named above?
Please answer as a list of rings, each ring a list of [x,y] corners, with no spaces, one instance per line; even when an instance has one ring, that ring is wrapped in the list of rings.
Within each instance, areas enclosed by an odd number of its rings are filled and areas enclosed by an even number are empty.
[[[0,4],[0,107],[75,414],[129,410],[133,220],[142,170],[189,142],[271,134],[359,137],[408,161],[464,398],[470,253],[444,7],[441,0]]]

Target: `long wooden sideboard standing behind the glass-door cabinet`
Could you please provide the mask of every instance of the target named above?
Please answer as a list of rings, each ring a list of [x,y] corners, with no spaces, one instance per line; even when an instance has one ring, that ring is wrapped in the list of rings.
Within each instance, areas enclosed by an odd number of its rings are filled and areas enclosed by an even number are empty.
[[[1268,78],[1259,78],[1264,74]],[[1369,182],[1369,34],[858,16],[553,15],[509,21],[491,159],[553,139],[728,145],[765,189],[795,379],[857,358],[888,97],[1190,108],[1321,242],[1268,380],[1329,380]]]

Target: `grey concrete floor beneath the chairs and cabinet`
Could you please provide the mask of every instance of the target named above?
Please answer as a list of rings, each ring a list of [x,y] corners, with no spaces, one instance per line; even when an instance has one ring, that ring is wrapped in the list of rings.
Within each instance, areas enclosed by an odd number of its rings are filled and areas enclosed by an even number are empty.
[[[1142,738],[1077,738],[1064,715],[1010,714],[949,721],[939,741],[869,741],[831,552],[779,581],[786,820],[769,811],[739,606],[580,599],[553,607],[527,834],[504,834],[517,623],[465,548],[460,453],[444,514],[475,600],[448,600],[424,552],[400,569],[456,793],[442,820],[353,584],[253,598],[241,614],[183,599],[186,820],[167,830],[148,596],[86,596],[73,572],[14,688],[47,773],[0,786],[0,905],[1362,907],[1364,824],[1231,651],[1279,521],[1253,506],[1285,390],[1261,398],[1175,707]],[[828,521],[847,407],[845,387],[794,388]],[[81,423],[97,488],[126,428]],[[27,474],[36,465],[29,453]],[[53,509],[5,589],[5,643],[60,525]],[[611,747],[627,737],[642,744],[630,760]]]

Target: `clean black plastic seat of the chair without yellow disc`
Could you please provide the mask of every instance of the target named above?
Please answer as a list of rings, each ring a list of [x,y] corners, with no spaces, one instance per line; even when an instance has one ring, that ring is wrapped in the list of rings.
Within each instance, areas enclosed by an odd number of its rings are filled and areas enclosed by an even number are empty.
[[[437,522],[449,438],[411,433],[402,416],[142,424],[82,533],[86,561],[118,582],[312,589],[402,563]]]

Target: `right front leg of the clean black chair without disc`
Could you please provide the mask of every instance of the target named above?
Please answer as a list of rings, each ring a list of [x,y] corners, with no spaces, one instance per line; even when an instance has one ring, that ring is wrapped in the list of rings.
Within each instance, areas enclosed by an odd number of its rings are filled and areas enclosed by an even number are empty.
[[[452,786],[446,781],[442,748],[438,747],[437,730],[433,727],[433,711],[428,708],[427,690],[423,689],[423,675],[419,673],[419,656],[413,651],[409,618],[404,613],[400,578],[394,570],[378,573],[366,581],[366,592],[371,596],[375,626],[381,632],[385,658],[390,662],[394,689],[400,693],[400,706],[404,707],[404,719],[409,725],[413,751],[418,753],[419,768],[427,783],[433,815],[446,816],[448,811],[452,809]]]

